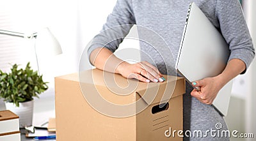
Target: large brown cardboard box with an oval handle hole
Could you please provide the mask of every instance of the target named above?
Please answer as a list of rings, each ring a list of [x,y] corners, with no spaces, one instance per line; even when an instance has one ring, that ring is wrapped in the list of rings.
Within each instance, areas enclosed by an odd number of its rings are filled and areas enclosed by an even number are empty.
[[[164,78],[144,83],[97,69],[56,77],[57,141],[182,140],[164,133],[182,130],[185,80]]]

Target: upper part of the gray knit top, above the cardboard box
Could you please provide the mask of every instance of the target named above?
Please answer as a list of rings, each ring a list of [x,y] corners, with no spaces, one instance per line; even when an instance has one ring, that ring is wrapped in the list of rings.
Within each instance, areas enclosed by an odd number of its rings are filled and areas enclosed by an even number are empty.
[[[255,52],[252,38],[238,1],[195,0],[194,2],[204,11],[212,24],[220,30],[230,45],[230,59],[241,59],[246,64],[246,68],[248,68],[255,56]],[[149,45],[150,43],[140,41],[140,50],[147,52],[147,56],[141,54],[141,61],[149,61],[152,64],[156,64],[162,73],[175,75],[172,73],[175,63],[170,62],[172,64],[168,64],[168,62],[163,62],[163,57],[166,56],[166,59],[168,59],[167,56],[170,57],[171,50],[173,61],[175,62],[177,58],[189,3],[191,3],[189,0],[118,0],[113,12],[108,16],[108,20],[102,28],[102,31],[105,32],[101,32],[93,38],[88,54],[97,47],[107,47],[112,52],[115,52],[123,38],[129,33],[131,25],[136,24],[141,26],[138,29],[140,38],[145,37],[147,41],[156,40],[156,35],[143,34],[145,33],[143,27],[145,27],[159,34],[167,44],[167,48],[163,48],[161,46],[161,44],[164,44],[163,41],[161,40],[161,43],[157,40],[158,42],[155,43],[156,41],[154,41],[153,44],[155,45],[152,47],[153,45]],[[126,26],[109,30],[111,27],[125,24]],[[130,24],[130,26],[127,24]],[[167,66],[163,67],[163,64]],[[166,69],[172,72],[166,72]]]

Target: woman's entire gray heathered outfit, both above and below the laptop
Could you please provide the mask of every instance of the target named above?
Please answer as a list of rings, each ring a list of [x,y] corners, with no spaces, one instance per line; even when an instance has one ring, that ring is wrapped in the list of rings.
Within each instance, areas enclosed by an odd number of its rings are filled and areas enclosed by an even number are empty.
[[[191,0],[118,0],[102,32],[93,38],[88,54],[97,47],[107,47],[115,52],[132,25],[136,24],[140,27],[138,34],[141,61],[156,65],[161,73],[176,75],[175,60],[191,2]],[[255,56],[255,50],[239,2],[237,0],[194,0],[194,2],[229,44],[231,52],[229,59],[241,59],[248,68]],[[118,27],[124,24],[126,26]],[[214,129],[217,122],[223,124],[223,129],[227,128],[225,121],[214,108],[191,98],[189,94],[191,90],[188,85],[187,94],[184,94],[184,130]],[[205,138],[191,138],[191,140],[200,139]]]

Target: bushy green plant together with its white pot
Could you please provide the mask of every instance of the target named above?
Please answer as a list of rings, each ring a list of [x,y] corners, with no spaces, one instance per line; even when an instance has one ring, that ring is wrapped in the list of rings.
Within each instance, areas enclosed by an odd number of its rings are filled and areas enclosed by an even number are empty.
[[[0,70],[0,98],[5,101],[6,109],[19,115],[20,128],[32,124],[33,99],[47,89],[47,82],[29,63],[25,69],[18,69],[14,64],[10,73]]]

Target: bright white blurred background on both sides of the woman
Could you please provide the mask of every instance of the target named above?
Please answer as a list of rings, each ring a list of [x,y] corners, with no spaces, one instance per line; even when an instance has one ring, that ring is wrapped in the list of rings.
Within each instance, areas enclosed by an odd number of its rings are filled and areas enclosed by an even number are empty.
[[[116,0],[0,0],[0,29],[20,33],[35,33],[43,27],[49,27],[52,34],[60,41],[63,54],[48,56],[44,49],[38,50],[40,73],[49,82],[49,89],[35,100],[34,112],[38,116],[44,112],[54,116],[54,77],[79,71],[79,61],[84,48],[99,33],[106,17],[113,10]],[[256,1],[241,1],[244,16],[256,45]],[[131,33],[136,33],[136,27]],[[138,48],[138,41],[125,39],[122,48]],[[117,54],[124,57],[127,54]],[[140,60],[139,54],[134,59]],[[82,59],[87,59],[86,57]],[[37,69],[33,41],[0,34],[0,70],[10,71],[10,64],[24,67],[31,62]],[[82,70],[90,69],[89,62],[84,63]],[[256,63],[244,75],[234,80],[232,97],[227,121],[230,131],[254,133],[256,135]],[[254,86],[254,87],[253,87]],[[44,108],[42,108],[44,107]],[[4,109],[0,100],[0,110]],[[231,140],[253,140],[253,138],[232,138]]]

